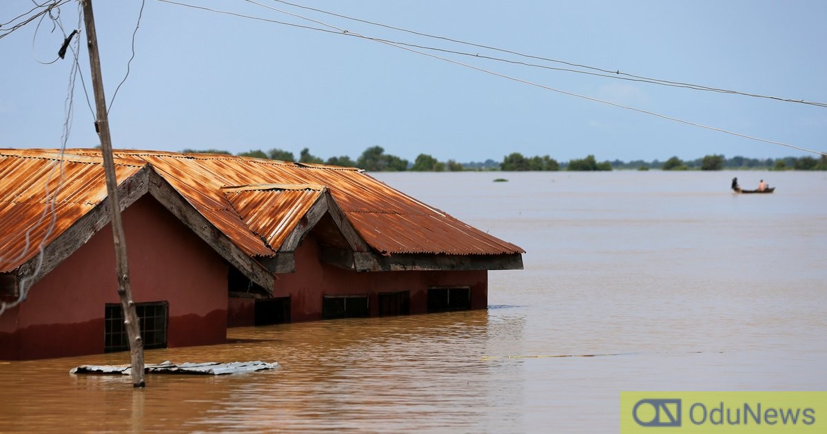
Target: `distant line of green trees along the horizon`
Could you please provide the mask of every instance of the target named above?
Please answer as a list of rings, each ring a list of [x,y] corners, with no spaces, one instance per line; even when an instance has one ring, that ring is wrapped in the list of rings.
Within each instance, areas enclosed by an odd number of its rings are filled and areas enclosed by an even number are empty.
[[[185,153],[196,154],[226,154],[232,155],[227,150],[193,150],[185,149]],[[324,160],[316,155],[310,154],[309,148],[299,152],[296,159],[292,152],[281,149],[249,150],[238,155],[262,158],[269,160],[292,161],[311,165],[338,165],[346,167],[357,167],[370,172],[401,172],[404,170],[415,172],[459,172],[462,170],[503,170],[503,171],[600,171],[613,169],[632,170],[734,170],[734,169],[771,169],[771,170],[827,170],[827,156],[821,155],[820,159],[810,156],[795,158],[785,157],[781,159],[755,159],[742,156],[725,158],[724,155],[705,155],[696,160],[681,160],[677,156],[666,161],[633,160],[624,162],[621,160],[600,161],[595,155],[587,155],[586,158],[558,162],[549,155],[525,156],[519,152],[505,155],[501,162],[485,160],[484,162],[458,163],[456,160],[439,161],[432,155],[419,154],[414,162],[404,160],[396,155],[385,154],[381,146],[370,146],[359,155],[356,161],[351,160],[347,155],[339,155]]]

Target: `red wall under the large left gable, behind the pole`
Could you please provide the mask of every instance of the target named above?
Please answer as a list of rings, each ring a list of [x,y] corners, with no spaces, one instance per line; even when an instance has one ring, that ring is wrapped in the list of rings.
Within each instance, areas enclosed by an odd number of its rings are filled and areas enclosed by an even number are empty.
[[[227,263],[150,196],[123,212],[123,224],[132,297],[169,302],[168,346],[226,341]],[[103,352],[106,303],[120,303],[110,226],[0,317],[0,359]]]

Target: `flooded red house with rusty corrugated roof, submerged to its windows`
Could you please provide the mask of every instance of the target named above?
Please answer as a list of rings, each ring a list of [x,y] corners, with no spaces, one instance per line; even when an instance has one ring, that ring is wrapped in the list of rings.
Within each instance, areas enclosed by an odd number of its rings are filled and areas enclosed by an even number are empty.
[[[361,169],[116,150],[146,348],[487,306],[522,249]],[[0,360],[127,349],[99,150],[0,150]]]

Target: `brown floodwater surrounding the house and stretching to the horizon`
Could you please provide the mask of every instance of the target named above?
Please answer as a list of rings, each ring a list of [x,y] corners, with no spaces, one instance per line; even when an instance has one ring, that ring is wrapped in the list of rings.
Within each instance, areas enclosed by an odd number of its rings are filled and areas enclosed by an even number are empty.
[[[766,179],[770,195],[736,195]],[[495,178],[506,183],[493,183]],[[146,361],[0,361],[0,432],[617,432],[621,390],[827,389],[827,174],[378,174],[528,250],[487,311],[231,329]],[[754,181],[754,182],[753,182]]]

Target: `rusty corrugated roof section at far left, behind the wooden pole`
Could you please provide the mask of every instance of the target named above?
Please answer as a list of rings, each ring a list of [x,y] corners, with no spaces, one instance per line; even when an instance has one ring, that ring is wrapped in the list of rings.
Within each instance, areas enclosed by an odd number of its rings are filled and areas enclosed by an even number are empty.
[[[118,182],[145,162],[116,160]],[[0,272],[17,269],[106,198],[98,158],[0,150]]]

